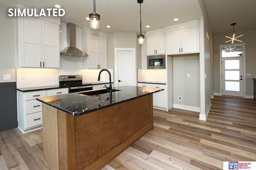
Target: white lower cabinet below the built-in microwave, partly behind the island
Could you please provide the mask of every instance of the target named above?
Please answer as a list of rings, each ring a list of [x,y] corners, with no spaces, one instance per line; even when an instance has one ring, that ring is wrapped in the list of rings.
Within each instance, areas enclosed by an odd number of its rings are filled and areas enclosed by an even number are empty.
[[[166,88],[165,84],[138,83],[141,87]],[[166,110],[166,90],[153,94],[153,107],[156,109]]]

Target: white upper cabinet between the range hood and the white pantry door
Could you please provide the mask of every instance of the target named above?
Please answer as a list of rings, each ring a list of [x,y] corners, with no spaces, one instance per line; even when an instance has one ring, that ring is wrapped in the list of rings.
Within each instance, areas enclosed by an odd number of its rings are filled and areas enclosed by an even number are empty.
[[[83,34],[83,68],[107,68],[107,39],[90,33]]]

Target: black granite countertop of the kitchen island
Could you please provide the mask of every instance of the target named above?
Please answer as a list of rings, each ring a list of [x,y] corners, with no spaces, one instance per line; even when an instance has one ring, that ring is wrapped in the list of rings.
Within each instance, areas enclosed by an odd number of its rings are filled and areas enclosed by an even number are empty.
[[[107,100],[109,93],[86,96],[79,94],[80,92],[41,97],[36,98],[36,100],[73,116],[80,116],[164,90],[163,88],[138,86],[118,86],[113,89],[120,91],[112,92],[112,100]]]

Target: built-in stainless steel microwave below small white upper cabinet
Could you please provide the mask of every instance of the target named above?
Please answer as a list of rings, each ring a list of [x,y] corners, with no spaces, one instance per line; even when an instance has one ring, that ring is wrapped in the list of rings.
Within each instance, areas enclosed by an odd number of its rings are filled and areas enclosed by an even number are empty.
[[[165,69],[165,55],[147,56],[148,69]]]

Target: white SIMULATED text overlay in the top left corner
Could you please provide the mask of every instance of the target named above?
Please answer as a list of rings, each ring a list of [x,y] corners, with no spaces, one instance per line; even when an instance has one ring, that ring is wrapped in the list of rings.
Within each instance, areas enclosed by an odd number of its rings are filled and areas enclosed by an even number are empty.
[[[40,9],[37,10],[36,8],[9,8],[8,9],[8,16],[34,16],[34,17],[41,17],[41,16],[54,16],[54,17],[61,17],[65,15],[65,10],[62,8],[47,8],[46,10]]]

